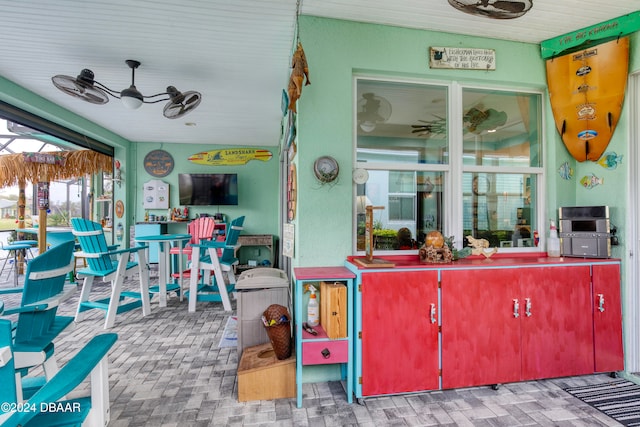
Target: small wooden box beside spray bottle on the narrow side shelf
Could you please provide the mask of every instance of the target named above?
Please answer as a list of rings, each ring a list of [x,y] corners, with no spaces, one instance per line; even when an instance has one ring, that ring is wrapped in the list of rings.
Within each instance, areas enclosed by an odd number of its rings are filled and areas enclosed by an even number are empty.
[[[331,339],[347,337],[347,286],[320,282],[320,324]]]

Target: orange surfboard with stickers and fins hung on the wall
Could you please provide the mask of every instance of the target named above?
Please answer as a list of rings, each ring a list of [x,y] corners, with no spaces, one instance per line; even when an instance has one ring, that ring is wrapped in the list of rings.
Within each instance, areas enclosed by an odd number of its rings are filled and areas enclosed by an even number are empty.
[[[628,72],[628,37],[547,60],[556,128],[577,161],[595,162],[609,145],[622,111]]]

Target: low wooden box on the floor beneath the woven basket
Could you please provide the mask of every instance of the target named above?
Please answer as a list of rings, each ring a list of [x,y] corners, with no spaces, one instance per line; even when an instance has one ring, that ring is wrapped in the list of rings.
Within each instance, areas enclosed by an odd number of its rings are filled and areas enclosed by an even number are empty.
[[[238,367],[238,401],[296,397],[295,352],[276,358],[271,344],[247,347]]]

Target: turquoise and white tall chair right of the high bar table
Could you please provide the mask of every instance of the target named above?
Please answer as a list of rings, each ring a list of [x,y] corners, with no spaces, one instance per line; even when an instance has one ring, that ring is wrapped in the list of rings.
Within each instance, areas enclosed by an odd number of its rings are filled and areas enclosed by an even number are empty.
[[[243,229],[244,216],[233,221],[227,230],[224,242],[201,242],[192,244],[191,280],[189,282],[189,312],[196,311],[197,301],[222,302],[225,311],[231,311],[231,292],[236,283],[233,266],[238,264],[235,257],[238,248],[238,237]],[[198,248],[198,250],[196,250]],[[212,282],[211,271],[214,273]],[[202,274],[199,274],[202,272]],[[229,285],[225,284],[224,274],[227,275]],[[200,282],[200,277],[202,282]]]

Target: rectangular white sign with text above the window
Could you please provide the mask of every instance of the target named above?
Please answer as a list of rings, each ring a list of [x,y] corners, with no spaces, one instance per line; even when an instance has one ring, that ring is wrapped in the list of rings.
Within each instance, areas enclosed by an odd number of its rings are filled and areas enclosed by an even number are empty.
[[[475,47],[431,47],[429,67],[455,70],[495,70],[495,49]]]

